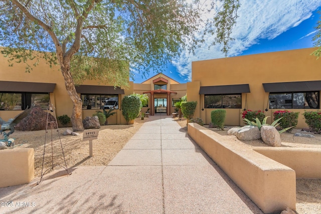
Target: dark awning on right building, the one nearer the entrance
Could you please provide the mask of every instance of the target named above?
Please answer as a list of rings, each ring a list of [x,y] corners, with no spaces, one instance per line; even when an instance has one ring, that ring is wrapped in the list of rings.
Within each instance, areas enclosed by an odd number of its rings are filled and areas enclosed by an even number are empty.
[[[249,84],[224,85],[224,86],[201,86],[200,94],[239,94],[249,93]]]

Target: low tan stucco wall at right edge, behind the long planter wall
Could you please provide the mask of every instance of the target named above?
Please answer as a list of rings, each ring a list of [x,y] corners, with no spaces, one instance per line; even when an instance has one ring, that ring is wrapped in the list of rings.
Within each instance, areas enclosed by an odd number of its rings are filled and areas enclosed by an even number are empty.
[[[255,147],[253,150],[290,167],[296,178],[321,178],[321,149]]]

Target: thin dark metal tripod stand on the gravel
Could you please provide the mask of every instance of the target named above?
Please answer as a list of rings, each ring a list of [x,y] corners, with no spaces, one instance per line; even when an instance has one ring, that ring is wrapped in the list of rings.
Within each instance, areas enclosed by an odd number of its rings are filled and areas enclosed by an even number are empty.
[[[62,165],[58,165],[56,164],[56,166],[60,166],[63,167],[68,174],[71,174],[71,172],[68,171],[68,167],[67,167],[67,163],[66,163],[66,158],[65,158],[65,153],[64,153],[64,149],[62,147],[62,142],[61,142],[61,138],[60,138],[60,134],[59,134],[59,129],[58,129],[58,122],[57,122],[57,117],[56,117],[56,113],[55,113],[55,107],[53,107],[52,104],[49,104],[49,108],[47,108],[48,110],[48,114],[47,114],[47,125],[46,125],[46,135],[45,135],[45,145],[44,145],[44,154],[43,154],[43,159],[42,159],[42,169],[41,169],[41,178],[40,181],[37,182],[37,185],[40,184],[40,182],[42,181],[42,178],[44,177],[44,175],[46,174],[46,172],[49,169],[54,169],[54,150],[53,150],[53,125],[56,124],[57,126],[57,132],[58,132],[58,136],[59,136],[59,141],[60,141],[60,145],[61,145],[61,151],[62,151],[62,155],[64,157],[64,161],[65,161],[65,166]],[[55,121],[48,121],[49,120],[49,111],[54,112],[54,117],[55,117]],[[44,172],[44,162],[45,162],[45,153],[46,153],[46,141],[47,141],[47,133],[48,133],[48,124],[50,125],[50,129],[51,129],[51,162],[52,162],[52,167],[46,169]]]

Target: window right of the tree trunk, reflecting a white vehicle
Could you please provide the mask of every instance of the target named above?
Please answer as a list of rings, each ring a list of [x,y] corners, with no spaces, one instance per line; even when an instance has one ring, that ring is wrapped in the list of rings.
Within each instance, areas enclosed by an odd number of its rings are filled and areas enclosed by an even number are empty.
[[[82,109],[118,109],[116,94],[81,94]]]

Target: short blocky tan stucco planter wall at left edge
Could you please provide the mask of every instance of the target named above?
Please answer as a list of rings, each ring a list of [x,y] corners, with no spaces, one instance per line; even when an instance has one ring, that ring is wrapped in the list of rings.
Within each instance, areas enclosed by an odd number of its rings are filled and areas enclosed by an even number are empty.
[[[33,148],[0,150],[0,187],[29,183],[35,178]]]

